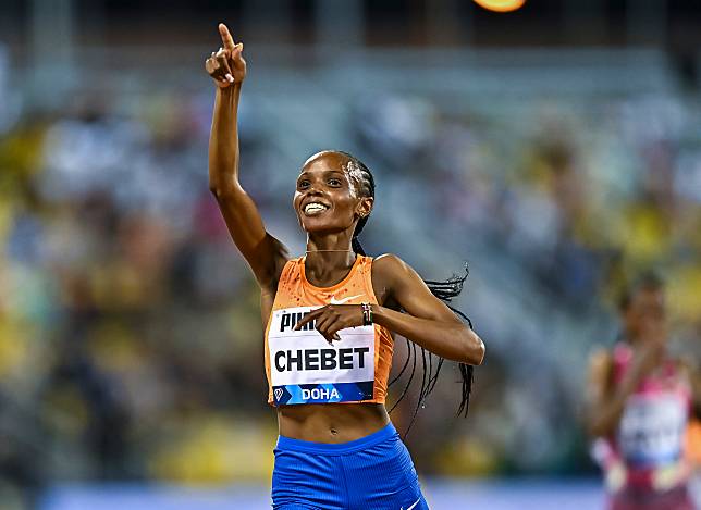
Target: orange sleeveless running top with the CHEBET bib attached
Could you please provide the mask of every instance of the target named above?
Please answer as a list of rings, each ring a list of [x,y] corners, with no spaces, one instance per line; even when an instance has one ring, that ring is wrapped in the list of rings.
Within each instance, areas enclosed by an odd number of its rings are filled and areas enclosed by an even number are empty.
[[[372,258],[356,256],[345,278],[316,287],[305,276],[304,257],[287,261],[266,326],[268,403],[384,403],[394,347],[386,327],[341,329],[333,345],[311,322],[294,329],[305,313],[325,304],[377,303],[371,270]]]

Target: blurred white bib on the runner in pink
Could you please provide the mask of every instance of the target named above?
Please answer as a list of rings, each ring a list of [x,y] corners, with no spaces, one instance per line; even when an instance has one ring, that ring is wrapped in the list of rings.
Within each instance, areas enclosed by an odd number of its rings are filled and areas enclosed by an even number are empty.
[[[654,467],[682,453],[687,406],[675,395],[635,395],[626,405],[618,440],[627,462]]]

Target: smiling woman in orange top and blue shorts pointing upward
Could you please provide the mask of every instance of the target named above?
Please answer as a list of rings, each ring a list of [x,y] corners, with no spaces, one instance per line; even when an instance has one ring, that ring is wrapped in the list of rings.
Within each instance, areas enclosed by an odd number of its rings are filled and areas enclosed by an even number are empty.
[[[280,432],[273,508],[427,509],[384,407],[393,334],[469,365],[482,362],[484,345],[398,257],[364,256],[357,234],[374,181],[350,154],[319,152],[297,177],[305,257],[288,257],[266,231],[238,182],[243,45],[223,24],[219,32],[223,46],[206,61],[217,84],[209,184],[261,290],[268,401]]]

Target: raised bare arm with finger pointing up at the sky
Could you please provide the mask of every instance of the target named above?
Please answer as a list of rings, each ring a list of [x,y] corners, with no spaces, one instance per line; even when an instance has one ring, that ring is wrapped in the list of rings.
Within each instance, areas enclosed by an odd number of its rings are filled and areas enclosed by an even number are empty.
[[[243,43],[219,25],[222,48],[205,63],[217,84],[209,137],[209,188],[217,198],[236,247],[263,289],[273,287],[287,260],[285,247],[266,232],[258,208],[238,182],[238,100],[246,77]]]

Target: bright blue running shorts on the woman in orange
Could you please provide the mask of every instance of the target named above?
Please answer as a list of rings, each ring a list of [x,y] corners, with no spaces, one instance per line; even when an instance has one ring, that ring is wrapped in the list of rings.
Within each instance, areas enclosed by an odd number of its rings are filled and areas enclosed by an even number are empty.
[[[357,440],[280,436],[272,473],[275,510],[428,510],[409,451],[391,423]]]

